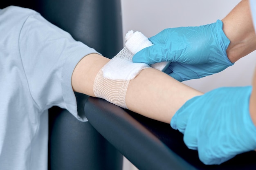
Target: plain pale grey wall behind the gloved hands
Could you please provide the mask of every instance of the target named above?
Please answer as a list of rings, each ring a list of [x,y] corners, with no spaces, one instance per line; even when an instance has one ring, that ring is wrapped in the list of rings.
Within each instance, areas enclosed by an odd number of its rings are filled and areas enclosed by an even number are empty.
[[[200,26],[224,18],[240,0],[121,0],[123,33],[140,31],[151,37],[165,28]],[[183,82],[202,92],[221,86],[246,86],[252,82],[256,52],[221,73]],[[126,170],[129,165],[124,164]]]

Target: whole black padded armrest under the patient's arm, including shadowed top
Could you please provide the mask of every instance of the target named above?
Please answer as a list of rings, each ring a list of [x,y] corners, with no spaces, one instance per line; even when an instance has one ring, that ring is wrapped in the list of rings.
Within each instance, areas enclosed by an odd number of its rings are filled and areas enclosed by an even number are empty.
[[[221,165],[206,166],[188,149],[183,135],[169,124],[89,97],[85,115],[94,128],[139,170],[255,170],[256,152],[247,152]]]

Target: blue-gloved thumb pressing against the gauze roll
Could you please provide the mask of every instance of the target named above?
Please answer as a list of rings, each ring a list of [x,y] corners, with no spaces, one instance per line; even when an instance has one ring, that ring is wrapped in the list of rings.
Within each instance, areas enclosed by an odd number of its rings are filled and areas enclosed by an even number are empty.
[[[164,62],[167,60],[167,51],[164,50],[162,44],[156,44],[153,46],[146,47],[141,51],[137,52],[133,57],[133,62],[141,62],[146,64],[155,64],[158,62]]]

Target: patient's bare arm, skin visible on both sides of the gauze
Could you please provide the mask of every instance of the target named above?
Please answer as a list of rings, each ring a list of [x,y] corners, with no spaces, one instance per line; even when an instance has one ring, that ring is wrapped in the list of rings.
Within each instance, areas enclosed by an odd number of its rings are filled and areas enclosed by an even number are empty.
[[[98,54],[84,57],[74,69],[73,90],[94,96],[95,76],[109,60]],[[202,95],[202,93],[161,71],[145,68],[135,79],[130,80],[126,92],[126,105],[136,113],[170,123],[175,112],[187,100],[197,95]]]

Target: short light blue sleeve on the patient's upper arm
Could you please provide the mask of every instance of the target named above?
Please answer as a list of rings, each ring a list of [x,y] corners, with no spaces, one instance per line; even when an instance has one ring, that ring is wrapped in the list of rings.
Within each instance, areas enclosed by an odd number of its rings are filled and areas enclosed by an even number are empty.
[[[39,110],[59,106],[77,115],[71,77],[76,64],[94,49],[45,20],[39,13],[27,18],[19,38],[20,57],[30,95]],[[86,73],[85,73],[86,74]]]

